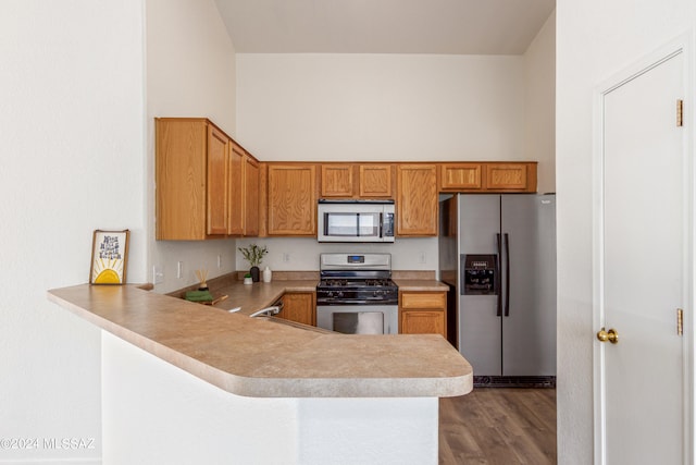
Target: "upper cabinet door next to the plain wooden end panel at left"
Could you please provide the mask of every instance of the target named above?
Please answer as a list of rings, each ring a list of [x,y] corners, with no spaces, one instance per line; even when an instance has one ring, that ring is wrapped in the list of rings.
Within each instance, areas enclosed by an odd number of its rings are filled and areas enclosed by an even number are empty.
[[[208,234],[227,233],[227,150],[229,139],[208,125]]]

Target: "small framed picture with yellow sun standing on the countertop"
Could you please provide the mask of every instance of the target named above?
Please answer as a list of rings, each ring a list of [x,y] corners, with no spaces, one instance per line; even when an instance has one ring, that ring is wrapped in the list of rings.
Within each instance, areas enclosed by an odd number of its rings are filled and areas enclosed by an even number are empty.
[[[96,230],[91,242],[90,284],[125,284],[130,231]]]

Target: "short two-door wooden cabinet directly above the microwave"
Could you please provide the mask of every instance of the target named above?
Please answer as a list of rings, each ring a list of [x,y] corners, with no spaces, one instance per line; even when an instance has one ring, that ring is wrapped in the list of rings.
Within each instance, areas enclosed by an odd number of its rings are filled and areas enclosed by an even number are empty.
[[[394,164],[322,163],[322,198],[394,198]]]

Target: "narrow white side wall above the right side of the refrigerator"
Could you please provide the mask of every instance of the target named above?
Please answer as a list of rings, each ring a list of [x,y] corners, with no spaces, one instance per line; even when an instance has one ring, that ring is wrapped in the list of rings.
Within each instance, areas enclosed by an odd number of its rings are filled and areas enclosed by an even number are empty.
[[[524,53],[525,158],[538,160],[538,192],[556,191],[556,12]]]

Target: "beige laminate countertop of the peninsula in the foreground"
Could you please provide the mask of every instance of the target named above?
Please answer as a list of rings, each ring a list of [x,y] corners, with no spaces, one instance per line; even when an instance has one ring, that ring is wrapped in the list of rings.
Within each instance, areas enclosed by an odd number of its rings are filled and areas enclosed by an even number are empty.
[[[315,281],[232,284],[211,307],[133,285],[51,290],[51,302],[231,393],[256,397],[455,396],[471,365],[439,335],[324,334],[249,318]],[[227,308],[240,306],[239,313]],[[245,315],[246,314],[246,315]]]

